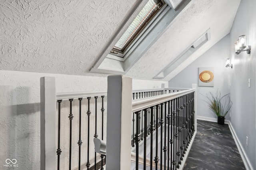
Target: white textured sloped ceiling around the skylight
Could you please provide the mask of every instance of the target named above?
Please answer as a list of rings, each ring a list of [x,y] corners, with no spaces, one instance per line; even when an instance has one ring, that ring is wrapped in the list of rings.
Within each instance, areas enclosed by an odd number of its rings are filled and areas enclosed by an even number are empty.
[[[230,32],[240,0],[192,0],[126,75],[152,80],[210,28],[170,80]],[[138,0],[0,0],[0,70],[88,76]]]

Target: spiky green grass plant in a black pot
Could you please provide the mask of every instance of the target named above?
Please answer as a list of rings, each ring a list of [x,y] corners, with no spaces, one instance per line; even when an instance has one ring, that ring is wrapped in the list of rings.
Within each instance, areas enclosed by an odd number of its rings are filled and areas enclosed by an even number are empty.
[[[218,124],[224,125],[225,116],[228,114],[228,111],[232,106],[230,94],[221,96],[218,90],[216,95],[209,92],[206,94],[206,103],[210,107],[210,110],[218,116]]]

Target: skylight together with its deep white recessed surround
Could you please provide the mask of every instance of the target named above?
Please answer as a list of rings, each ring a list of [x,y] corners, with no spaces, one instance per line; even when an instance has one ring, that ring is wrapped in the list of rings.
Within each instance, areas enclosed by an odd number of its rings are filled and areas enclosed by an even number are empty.
[[[190,1],[138,1],[90,72],[126,74]]]

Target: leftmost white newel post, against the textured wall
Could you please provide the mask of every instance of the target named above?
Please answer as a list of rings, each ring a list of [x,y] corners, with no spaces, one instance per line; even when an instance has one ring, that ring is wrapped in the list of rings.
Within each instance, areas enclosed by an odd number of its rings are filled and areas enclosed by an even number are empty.
[[[40,78],[41,170],[56,169],[56,89],[54,77]]]

